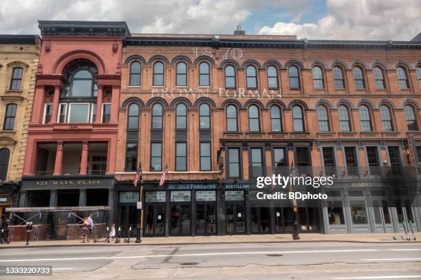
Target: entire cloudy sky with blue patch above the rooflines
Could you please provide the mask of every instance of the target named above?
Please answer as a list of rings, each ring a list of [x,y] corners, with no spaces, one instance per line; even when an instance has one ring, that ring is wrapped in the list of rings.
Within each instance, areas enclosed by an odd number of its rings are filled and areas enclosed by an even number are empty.
[[[127,21],[132,33],[295,34],[308,39],[411,40],[420,0],[1,0],[0,34],[36,21]]]

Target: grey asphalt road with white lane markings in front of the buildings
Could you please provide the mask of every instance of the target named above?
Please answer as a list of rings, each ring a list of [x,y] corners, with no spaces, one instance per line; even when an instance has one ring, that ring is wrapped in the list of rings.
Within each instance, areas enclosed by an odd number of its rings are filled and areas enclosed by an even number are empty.
[[[297,242],[1,248],[0,266],[52,277],[0,279],[421,279],[421,243]]]

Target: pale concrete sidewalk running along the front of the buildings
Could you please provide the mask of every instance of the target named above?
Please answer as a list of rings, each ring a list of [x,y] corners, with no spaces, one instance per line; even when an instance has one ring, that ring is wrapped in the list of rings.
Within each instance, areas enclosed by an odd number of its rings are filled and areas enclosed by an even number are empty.
[[[302,233],[300,240],[292,240],[291,234],[268,234],[268,235],[224,235],[224,236],[182,236],[182,237],[144,237],[141,244],[135,243],[135,238],[131,238],[130,243],[121,240],[120,243],[101,242],[88,244],[79,240],[52,240],[30,242],[29,246],[25,242],[12,242],[10,244],[0,244],[1,248],[21,248],[21,247],[58,247],[58,246],[139,246],[139,245],[174,245],[174,244],[224,244],[224,243],[270,243],[270,242],[362,242],[362,243],[396,243],[408,242],[401,240],[399,233],[370,233],[370,234],[321,234]],[[393,240],[396,236],[397,240]],[[410,235],[412,236],[412,235]],[[421,242],[421,234],[417,240],[410,242]]]

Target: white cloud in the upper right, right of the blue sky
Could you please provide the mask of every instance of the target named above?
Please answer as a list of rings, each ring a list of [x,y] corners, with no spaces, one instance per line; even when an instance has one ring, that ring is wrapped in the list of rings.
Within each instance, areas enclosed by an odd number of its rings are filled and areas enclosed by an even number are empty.
[[[327,0],[328,14],[317,23],[278,22],[259,34],[296,34],[298,38],[411,40],[421,32],[420,0]]]

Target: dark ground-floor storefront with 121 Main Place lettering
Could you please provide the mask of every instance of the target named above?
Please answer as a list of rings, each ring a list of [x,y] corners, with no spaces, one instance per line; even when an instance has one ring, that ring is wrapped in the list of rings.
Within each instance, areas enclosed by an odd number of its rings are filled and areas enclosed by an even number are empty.
[[[114,176],[40,176],[23,177],[19,207],[111,207],[114,204]],[[84,213],[84,215],[87,213]],[[93,213],[94,222],[111,223],[110,211]],[[25,217],[24,217],[25,218]],[[79,222],[76,216],[65,211],[53,211],[43,215],[42,224],[51,226],[48,239],[67,237],[69,224]]]

